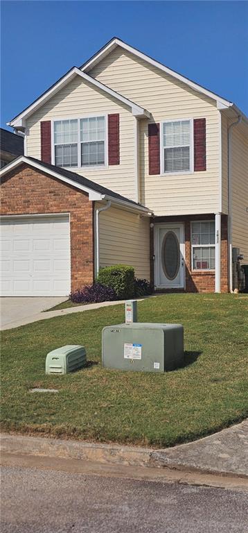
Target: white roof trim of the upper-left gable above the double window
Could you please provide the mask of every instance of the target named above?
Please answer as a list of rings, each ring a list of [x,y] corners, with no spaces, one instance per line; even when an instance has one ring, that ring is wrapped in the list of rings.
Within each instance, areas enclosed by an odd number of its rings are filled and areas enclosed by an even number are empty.
[[[131,110],[134,117],[140,117],[140,118],[148,118],[150,117],[150,113],[145,110],[144,108],[141,108],[140,105],[137,105],[136,103],[132,102],[131,100],[125,98],[125,96],[122,96],[118,92],[112,90],[110,87],[107,87],[107,85],[104,85],[104,83],[101,83],[98,80],[95,80],[95,78],[92,78],[92,76],[89,76],[89,74],[82,72],[82,70],[78,69],[78,67],[72,67],[62,78],[60,78],[58,81],[53,83],[51,87],[49,87],[44,93],[41,94],[33,103],[28,105],[27,108],[25,108],[19,115],[14,117],[10,122],[7,123],[8,126],[21,126],[24,127],[24,120],[27,119],[30,115],[33,114],[41,105],[43,105],[46,101],[51,99],[56,92],[60,91],[62,87],[67,85],[70,81],[73,80],[76,76],[80,76],[83,80],[91,83],[95,87],[97,87],[100,90],[103,90],[106,94],[109,96],[114,96],[116,100],[121,101],[122,103],[125,103]]]

